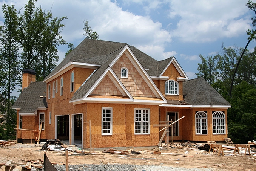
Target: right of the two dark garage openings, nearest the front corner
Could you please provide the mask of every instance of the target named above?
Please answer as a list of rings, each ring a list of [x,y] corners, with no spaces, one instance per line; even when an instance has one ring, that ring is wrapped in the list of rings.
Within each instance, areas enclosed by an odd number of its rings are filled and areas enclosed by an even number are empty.
[[[82,143],[82,114],[74,115],[74,144]]]

